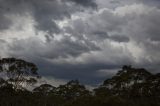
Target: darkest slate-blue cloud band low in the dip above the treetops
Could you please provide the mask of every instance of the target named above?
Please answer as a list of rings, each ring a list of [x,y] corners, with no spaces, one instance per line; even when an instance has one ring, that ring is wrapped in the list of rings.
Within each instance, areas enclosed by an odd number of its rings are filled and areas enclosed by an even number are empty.
[[[120,65],[113,64],[79,64],[79,65],[53,65],[49,70],[46,70],[48,73],[42,72],[41,74],[44,76],[54,76],[56,78],[63,79],[78,79],[82,83],[89,85],[96,85],[99,82],[102,82],[107,77],[111,76],[104,75],[104,77],[98,76],[99,73],[97,70],[100,69],[115,69],[117,70]],[[51,70],[52,69],[52,70]],[[56,73],[56,74],[55,74]]]

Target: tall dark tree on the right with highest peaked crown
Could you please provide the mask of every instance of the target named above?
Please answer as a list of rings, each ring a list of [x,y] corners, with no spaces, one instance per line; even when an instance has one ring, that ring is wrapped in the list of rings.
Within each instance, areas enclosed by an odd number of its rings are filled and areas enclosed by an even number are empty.
[[[151,75],[146,69],[125,65],[115,76],[105,80],[102,87],[110,89],[115,95],[129,97],[131,90],[142,85]]]

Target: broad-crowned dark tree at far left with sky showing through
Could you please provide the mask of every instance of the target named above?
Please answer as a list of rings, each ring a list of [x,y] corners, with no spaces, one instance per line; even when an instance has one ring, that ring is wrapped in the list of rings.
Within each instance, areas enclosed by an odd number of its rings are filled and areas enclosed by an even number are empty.
[[[21,88],[23,84],[32,85],[40,78],[37,66],[33,63],[16,59],[2,58],[0,60],[0,72],[5,73],[7,81],[14,85],[15,89]]]

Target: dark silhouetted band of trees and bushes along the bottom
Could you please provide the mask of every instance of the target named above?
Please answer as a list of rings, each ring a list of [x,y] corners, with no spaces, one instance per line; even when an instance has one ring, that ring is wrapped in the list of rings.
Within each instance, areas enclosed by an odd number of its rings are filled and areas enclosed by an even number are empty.
[[[0,60],[0,106],[160,106],[160,74],[123,66],[112,78],[89,91],[78,80],[54,87],[42,84],[32,91],[40,78],[35,64],[15,58]]]

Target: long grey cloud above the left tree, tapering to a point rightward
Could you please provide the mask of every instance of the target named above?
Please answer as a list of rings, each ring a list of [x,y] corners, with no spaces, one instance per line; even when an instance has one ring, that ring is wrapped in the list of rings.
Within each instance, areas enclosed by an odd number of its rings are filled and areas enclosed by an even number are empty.
[[[41,43],[40,43],[41,42]],[[28,47],[28,48],[26,48]],[[30,38],[25,40],[15,40],[9,46],[10,55],[18,56],[34,56],[44,57],[47,59],[67,58],[68,56],[77,57],[83,53],[100,50],[98,46],[89,41],[73,41],[71,37],[64,37],[60,41],[53,40],[44,44],[41,40]],[[24,49],[26,48],[26,49]],[[17,51],[19,51],[17,53]]]

